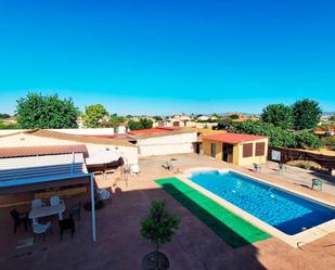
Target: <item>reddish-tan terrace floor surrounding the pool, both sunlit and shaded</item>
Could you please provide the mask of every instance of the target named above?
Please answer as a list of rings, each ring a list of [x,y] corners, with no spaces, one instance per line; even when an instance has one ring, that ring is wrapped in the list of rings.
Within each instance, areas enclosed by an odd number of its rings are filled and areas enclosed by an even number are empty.
[[[163,162],[173,160],[175,170],[162,168]],[[141,269],[141,258],[153,246],[140,236],[140,220],[147,213],[154,198],[164,198],[170,211],[181,218],[180,229],[173,242],[163,246],[162,250],[170,259],[172,270],[222,270],[222,269],[278,269],[278,270],[327,270],[335,265],[335,233],[317,240],[301,248],[293,248],[284,242],[270,237],[265,241],[232,248],[218,237],[205,223],[182,207],[153,180],[175,176],[191,167],[234,167],[245,173],[255,175],[247,168],[223,164],[208,157],[194,154],[142,158],[141,173],[130,177],[128,188],[124,181],[117,181],[119,172],[108,175],[107,179],[98,179],[100,188],[113,187],[113,200],[105,207],[96,210],[96,243],[90,237],[90,213],[82,211],[82,219],[77,222],[75,237],[65,234],[61,242],[56,219],[53,234],[47,241],[37,239],[33,247],[15,249],[18,240],[29,237],[21,228],[17,234],[12,232],[10,208],[0,209],[0,268],[20,270],[67,270],[67,269]],[[335,203],[335,196],[297,185],[276,177],[275,173],[257,173],[282,187],[295,189],[315,197]],[[66,205],[74,201],[86,202],[87,197],[66,200]],[[26,208],[25,208],[26,207]],[[21,206],[20,209],[28,209]]]

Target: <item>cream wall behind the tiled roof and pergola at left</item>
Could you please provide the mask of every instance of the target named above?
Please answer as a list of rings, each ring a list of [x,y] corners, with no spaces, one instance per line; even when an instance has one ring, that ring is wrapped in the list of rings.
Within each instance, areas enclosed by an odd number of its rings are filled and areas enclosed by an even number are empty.
[[[43,138],[33,134],[20,133],[15,136],[0,138],[0,151],[1,147],[24,147],[24,146],[43,146],[43,145],[69,145],[69,144],[82,144],[76,141],[59,140],[52,138]],[[86,143],[89,153],[96,152],[101,149],[118,150],[124,153],[124,157],[127,158],[129,164],[138,164],[138,147],[129,147],[123,145],[113,144],[94,144]]]

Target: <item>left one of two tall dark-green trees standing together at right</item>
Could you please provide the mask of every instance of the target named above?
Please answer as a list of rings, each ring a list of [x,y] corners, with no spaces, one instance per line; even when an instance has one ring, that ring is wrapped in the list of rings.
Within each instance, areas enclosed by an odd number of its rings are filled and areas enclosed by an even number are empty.
[[[293,111],[284,104],[271,104],[262,110],[261,120],[283,129],[293,128]]]

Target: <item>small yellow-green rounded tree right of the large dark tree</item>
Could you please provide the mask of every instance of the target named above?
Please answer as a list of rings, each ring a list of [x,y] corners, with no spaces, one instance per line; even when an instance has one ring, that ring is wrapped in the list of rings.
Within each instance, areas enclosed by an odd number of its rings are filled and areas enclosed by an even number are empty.
[[[108,123],[108,112],[104,105],[93,104],[85,107],[82,119],[87,128],[99,128]]]

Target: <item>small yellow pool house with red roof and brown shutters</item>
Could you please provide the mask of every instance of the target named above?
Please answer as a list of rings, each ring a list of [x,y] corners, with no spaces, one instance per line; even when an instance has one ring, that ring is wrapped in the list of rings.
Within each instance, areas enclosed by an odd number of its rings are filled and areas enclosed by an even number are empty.
[[[268,138],[240,133],[215,133],[203,137],[204,154],[244,166],[263,164],[268,155]]]

